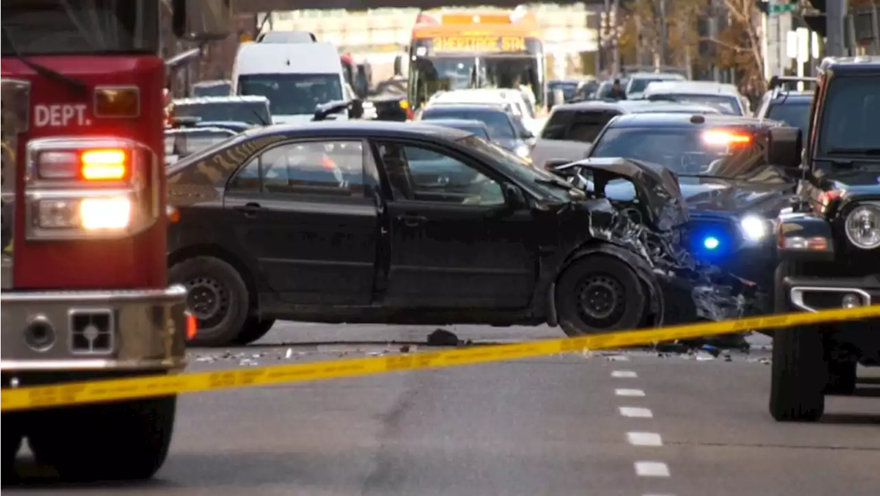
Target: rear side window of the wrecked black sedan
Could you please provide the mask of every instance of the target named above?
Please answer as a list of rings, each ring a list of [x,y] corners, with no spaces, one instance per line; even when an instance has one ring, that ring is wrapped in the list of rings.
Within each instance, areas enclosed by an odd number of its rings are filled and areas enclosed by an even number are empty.
[[[230,185],[237,191],[306,194],[363,193],[363,143],[295,142],[260,154]]]

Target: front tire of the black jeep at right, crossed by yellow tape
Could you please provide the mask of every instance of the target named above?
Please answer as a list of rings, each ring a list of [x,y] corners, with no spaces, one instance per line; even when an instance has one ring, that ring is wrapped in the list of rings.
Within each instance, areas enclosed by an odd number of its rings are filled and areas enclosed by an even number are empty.
[[[792,267],[781,263],[776,268],[774,310],[786,313],[787,298],[782,294],[782,279]],[[825,339],[816,326],[777,329],[773,339],[773,363],[770,381],[770,414],[780,422],[814,422],[825,412]]]

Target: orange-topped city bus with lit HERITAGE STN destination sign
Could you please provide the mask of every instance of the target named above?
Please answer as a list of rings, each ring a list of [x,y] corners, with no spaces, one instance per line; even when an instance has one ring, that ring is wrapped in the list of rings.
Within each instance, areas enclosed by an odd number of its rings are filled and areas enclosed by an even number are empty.
[[[416,18],[409,47],[409,101],[437,91],[519,88],[546,110],[546,63],[537,18],[524,11],[441,11]]]

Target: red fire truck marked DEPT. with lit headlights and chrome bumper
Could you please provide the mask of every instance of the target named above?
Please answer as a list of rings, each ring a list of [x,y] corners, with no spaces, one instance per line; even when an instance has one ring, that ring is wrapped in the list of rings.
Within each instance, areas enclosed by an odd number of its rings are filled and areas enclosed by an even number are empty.
[[[224,37],[229,0],[0,2],[0,387],[179,372],[186,291],[165,255],[161,9]],[[150,478],[176,398],[0,412],[62,478]]]

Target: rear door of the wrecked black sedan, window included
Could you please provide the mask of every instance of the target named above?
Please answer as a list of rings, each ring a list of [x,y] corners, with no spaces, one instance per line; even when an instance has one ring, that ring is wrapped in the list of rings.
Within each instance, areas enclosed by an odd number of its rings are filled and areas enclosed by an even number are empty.
[[[285,142],[227,186],[224,208],[238,213],[229,229],[282,301],[370,303],[378,210],[364,194],[365,150],[351,139]]]

